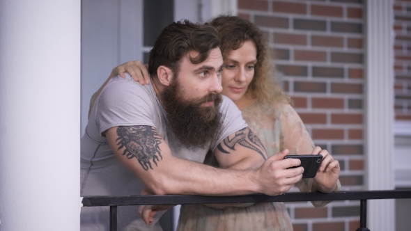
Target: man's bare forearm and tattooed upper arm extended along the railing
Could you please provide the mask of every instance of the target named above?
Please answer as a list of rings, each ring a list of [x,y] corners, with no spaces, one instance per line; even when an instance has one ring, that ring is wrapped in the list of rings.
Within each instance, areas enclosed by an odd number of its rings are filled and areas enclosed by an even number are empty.
[[[105,135],[121,163],[157,195],[279,194],[270,184],[275,179],[272,163],[284,153],[270,157],[257,170],[219,169],[173,157],[155,127],[111,127]]]

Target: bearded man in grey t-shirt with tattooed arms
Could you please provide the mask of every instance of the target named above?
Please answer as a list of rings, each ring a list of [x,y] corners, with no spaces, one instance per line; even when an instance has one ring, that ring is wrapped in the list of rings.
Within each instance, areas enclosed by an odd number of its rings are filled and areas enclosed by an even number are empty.
[[[82,137],[82,196],[274,196],[301,179],[301,167],[286,169],[300,160],[279,161],[287,151],[267,159],[237,106],[220,95],[223,58],[212,26],[166,26],[148,64],[150,84],[115,77],[93,104]],[[209,150],[221,168],[201,164]],[[161,229],[137,210],[118,207],[119,230]],[[83,207],[81,225],[108,230],[109,208]]]

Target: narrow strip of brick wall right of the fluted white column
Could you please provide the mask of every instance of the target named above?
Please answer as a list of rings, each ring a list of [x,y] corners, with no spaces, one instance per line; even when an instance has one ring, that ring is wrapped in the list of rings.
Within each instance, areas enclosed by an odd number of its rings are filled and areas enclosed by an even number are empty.
[[[394,1],[395,115],[411,122],[411,2]]]

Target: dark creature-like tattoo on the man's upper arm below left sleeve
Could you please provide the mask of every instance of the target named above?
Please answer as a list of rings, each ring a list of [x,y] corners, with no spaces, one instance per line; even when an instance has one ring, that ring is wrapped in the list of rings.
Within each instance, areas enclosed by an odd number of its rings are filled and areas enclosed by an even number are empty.
[[[160,150],[161,136],[150,126],[119,126],[117,128],[118,150],[125,147],[123,155],[128,159],[136,157],[144,170],[153,167],[150,160],[157,166],[158,156],[163,159]],[[157,156],[158,154],[158,156]]]

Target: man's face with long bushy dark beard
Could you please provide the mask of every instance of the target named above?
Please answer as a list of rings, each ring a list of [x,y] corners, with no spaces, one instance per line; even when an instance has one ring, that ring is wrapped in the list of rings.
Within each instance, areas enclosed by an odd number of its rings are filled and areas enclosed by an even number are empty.
[[[208,59],[199,64],[191,63],[189,56],[185,56],[178,77],[162,92],[169,127],[187,147],[205,147],[219,135],[221,69],[219,49],[213,49]]]

